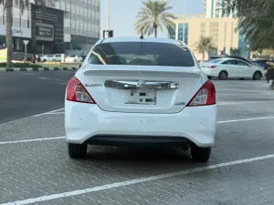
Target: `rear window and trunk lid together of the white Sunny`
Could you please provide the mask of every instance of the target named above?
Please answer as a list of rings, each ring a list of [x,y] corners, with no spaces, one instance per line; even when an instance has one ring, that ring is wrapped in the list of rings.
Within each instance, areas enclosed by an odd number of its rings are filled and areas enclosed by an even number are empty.
[[[184,109],[202,87],[191,52],[181,44],[135,43],[102,44],[92,51],[81,79],[90,96],[101,109],[113,112]]]

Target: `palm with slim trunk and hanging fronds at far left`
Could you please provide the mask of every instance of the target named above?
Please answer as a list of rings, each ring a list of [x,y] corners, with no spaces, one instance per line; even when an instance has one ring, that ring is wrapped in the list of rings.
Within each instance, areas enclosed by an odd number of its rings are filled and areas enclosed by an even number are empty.
[[[46,12],[47,5],[54,5],[56,0],[35,0],[35,4],[39,5],[43,12]],[[5,41],[6,41],[6,66],[12,66],[13,55],[13,4],[20,5],[21,12],[24,11],[26,5],[29,4],[29,0],[0,0],[0,4],[5,2]]]

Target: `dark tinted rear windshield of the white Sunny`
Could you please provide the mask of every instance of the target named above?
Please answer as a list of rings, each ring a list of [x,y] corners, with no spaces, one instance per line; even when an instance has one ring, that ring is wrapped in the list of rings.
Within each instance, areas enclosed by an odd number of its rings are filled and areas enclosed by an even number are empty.
[[[96,65],[194,67],[195,61],[181,44],[115,42],[95,46],[89,58]]]

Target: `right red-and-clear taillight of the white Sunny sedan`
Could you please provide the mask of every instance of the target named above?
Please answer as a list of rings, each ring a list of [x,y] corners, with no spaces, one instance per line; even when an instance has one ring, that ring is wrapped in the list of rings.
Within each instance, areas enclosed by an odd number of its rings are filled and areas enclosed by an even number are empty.
[[[203,87],[195,94],[195,96],[187,104],[187,107],[209,106],[216,104],[216,89],[211,81],[206,81]]]

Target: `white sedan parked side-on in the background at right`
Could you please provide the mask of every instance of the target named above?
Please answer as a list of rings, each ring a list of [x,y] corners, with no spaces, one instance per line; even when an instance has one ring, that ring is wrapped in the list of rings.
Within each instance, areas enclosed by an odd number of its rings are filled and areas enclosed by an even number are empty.
[[[263,67],[248,63],[237,58],[216,58],[201,63],[200,67],[208,78],[218,77],[221,80],[227,77],[253,78],[259,80],[265,74]]]

